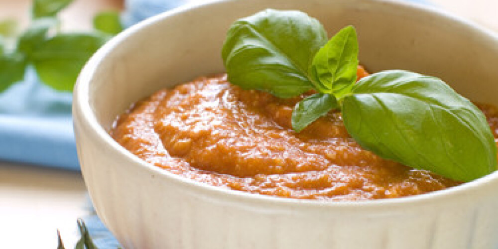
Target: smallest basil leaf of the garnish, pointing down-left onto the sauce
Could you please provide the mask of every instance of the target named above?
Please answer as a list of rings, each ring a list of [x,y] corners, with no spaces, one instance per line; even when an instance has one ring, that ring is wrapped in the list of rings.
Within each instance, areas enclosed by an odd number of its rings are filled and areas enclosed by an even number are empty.
[[[291,119],[292,128],[294,131],[300,132],[308,124],[337,107],[337,100],[333,95],[322,93],[311,95],[294,107]]]

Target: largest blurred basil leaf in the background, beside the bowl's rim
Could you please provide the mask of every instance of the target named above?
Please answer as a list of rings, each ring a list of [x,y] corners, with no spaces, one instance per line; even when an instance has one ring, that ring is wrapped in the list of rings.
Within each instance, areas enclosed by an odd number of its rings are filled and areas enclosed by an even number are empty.
[[[72,91],[80,70],[105,42],[97,34],[59,34],[37,46],[31,60],[45,84]]]

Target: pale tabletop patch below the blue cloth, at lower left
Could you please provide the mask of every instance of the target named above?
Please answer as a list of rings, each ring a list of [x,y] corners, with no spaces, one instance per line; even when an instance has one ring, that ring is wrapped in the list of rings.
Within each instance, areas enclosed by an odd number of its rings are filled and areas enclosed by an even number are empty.
[[[56,249],[59,229],[73,249],[88,206],[79,172],[0,162],[0,248]]]

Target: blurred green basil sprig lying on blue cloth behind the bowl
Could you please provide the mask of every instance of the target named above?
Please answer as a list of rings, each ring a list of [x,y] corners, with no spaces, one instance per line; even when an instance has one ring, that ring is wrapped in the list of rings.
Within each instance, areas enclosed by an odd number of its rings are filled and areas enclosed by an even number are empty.
[[[57,18],[72,0],[33,0],[30,25],[16,35],[16,22],[0,22],[0,93],[24,78],[33,66],[40,80],[58,91],[72,91],[86,61],[123,28],[118,13],[94,18],[95,31],[63,33]]]

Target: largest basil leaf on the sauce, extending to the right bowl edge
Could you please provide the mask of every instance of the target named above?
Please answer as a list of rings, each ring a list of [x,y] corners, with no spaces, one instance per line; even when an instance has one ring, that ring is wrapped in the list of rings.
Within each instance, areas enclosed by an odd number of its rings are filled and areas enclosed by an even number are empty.
[[[343,101],[344,124],[377,155],[462,181],[497,169],[484,114],[442,80],[383,71],[360,80],[353,93]]]

